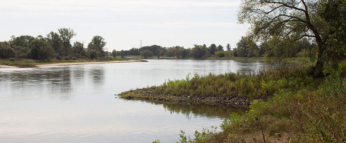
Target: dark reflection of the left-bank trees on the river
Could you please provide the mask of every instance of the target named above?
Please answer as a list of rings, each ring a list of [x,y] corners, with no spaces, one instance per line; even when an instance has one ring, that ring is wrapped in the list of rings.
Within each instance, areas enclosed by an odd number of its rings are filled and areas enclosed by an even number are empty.
[[[104,68],[81,65],[0,71],[0,75],[2,99],[25,99],[35,95],[70,100],[81,88],[87,91],[102,89],[105,78]]]

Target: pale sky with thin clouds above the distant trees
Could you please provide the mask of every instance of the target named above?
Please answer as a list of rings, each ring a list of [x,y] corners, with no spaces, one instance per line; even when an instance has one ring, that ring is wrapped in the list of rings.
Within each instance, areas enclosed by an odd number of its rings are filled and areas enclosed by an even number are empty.
[[[0,41],[72,28],[87,46],[95,35],[108,51],[160,45],[234,48],[247,27],[237,23],[240,0],[1,0]],[[225,49],[225,48],[224,48]]]

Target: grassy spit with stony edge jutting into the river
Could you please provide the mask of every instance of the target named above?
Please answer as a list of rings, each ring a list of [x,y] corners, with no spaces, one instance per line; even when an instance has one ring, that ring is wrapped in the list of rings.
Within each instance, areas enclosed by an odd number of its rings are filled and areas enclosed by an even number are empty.
[[[252,71],[250,73],[245,71],[220,75],[210,73],[207,76],[188,74],[185,79],[167,79],[160,86],[130,90],[120,93],[119,96],[127,99],[205,104],[221,103],[233,107],[248,107],[252,101],[258,99],[266,101],[279,89],[299,89],[299,85],[289,85],[288,79],[282,79],[282,77],[290,75],[292,76],[290,78],[298,76],[305,79],[309,69],[310,67],[280,68]],[[310,81],[310,78],[306,80]]]

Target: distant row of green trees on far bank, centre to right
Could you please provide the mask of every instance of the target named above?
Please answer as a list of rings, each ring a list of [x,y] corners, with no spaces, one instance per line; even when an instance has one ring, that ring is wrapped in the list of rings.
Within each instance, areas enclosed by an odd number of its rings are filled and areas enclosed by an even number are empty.
[[[142,48],[132,48],[130,50],[113,50],[111,56],[124,57],[126,55],[141,56],[143,58],[149,58],[156,56],[160,57],[177,57],[177,58],[209,58],[209,57],[273,57],[275,54],[271,53],[271,47],[268,44],[257,45],[256,42],[243,36],[236,44],[234,50],[225,51],[224,47],[215,44],[211,44],[207,47],[203,45],[193,45],[193,48],[184,48],[182,46],[173,47],[161,47],[158,45],[144,46]],[[281,54],[284,58],[291,57],[307,57],[311,60],[317,58],[317,45],[314,42],[309,41],[307,38],[303,38],[295,44],[291,45],[289,49],[282,49]]]

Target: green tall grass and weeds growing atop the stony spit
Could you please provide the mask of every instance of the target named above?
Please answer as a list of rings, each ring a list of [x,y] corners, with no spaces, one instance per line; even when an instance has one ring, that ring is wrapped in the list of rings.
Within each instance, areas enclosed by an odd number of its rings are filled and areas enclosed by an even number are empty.
[[[270,97],[279,89],[296,88],[301,86],[317,87],[317,81],[311,77],[311,67],[279,68],[258,71],[238,71],[206,76],[198,74],[186,75],[185,79],[167,80],[161,85],[165,94],[175,96],[238,96]]]

